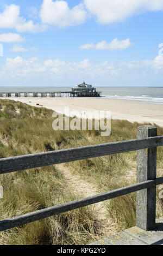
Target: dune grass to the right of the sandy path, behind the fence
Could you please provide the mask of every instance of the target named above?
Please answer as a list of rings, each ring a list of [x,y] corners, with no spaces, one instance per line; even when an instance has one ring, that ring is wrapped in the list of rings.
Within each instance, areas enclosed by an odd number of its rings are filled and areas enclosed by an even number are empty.
[[[150,123],[130,123],[128,121],[114,120],[111,124],[109,137],[92,136],[89,143],[99,144],[112,141],[136,139],[137,127]],[[156,126],[156,125],[155,125]],[[158,126],[157,126],[158,127]],[[158,127],[158,135],[163,134],[163,128]],[[94,159],[67,163],[74,174],[78,173],[82,178],[96,184],[99,192],[107,192],[136,183],[136,158],[137,153],[128,152]],[[157,168],[158,177],[163,176],[163,147],[158,148]],[[156,217],[163,216],[163,200],[156,199]],[[117,231],[134,227],[136,224],[136,193],[109,200],[106,203],[108,217],[112,219]]]

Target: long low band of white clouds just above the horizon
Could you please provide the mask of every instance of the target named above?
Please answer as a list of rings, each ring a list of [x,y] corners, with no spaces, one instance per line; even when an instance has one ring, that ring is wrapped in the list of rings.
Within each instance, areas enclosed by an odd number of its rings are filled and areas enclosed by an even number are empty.
[[[44,62],[33,57],[29,59],[17,56],[15,58],[7,58],[4,66],[0,68],[0,76],[9,78],[12,77],[27,77],[27,78],[78,78],[84,76],[90,79],[99,78],[121,78],[130,76],[136,79],[142,76],[149,77],[152,74],[163,74],[163,56],[158,55],[154,59],[142,59],[140,61],[118,61],[112,62],[92,62],[89,59],[84,59],[80,62],[65,62],[60,59],[47,59]]]

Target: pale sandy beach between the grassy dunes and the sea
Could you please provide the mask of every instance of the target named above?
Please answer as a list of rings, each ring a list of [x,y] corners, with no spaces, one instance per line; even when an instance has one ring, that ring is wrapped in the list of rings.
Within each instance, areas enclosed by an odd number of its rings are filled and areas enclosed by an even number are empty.
[[[137,100],[109,98],[1,98],[27,103],[32,106],[43,105],[44,108],[57,111],[69,106],[70,111],[105,110],[111,111],[113,119],[130,122],[150,122],[163,127],[163,105]],[[40,106],[39,106],[40,107]]]

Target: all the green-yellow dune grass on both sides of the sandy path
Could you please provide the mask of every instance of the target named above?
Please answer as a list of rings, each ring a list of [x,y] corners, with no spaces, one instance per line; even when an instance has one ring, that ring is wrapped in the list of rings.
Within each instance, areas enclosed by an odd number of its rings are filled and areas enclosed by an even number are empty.
[[[112,141],[135,139],[142,124],[114,120],[111,135],[99,131],[54,131],[52,110],[20,102],[0,100],[0,157],[52,151]],[[163,128],[158,127],[158,134]],[[90,182],[99,193],[136,182],[136,152],[80,160],[65,164],[73,175]],[[163,148],[158,148],[158,175],[163,175]],[[74,194],[58,166],[0,175],[4,198],[0,219],[40,210],[83,198]],[[135,193],[106,202],[108,218],[117,231],[135,225]],[[157,217],[163,214],[163,201],[157,199]],[[0,233],[0,245],[81,245],[101,234],[94,206],[84,207]]]

